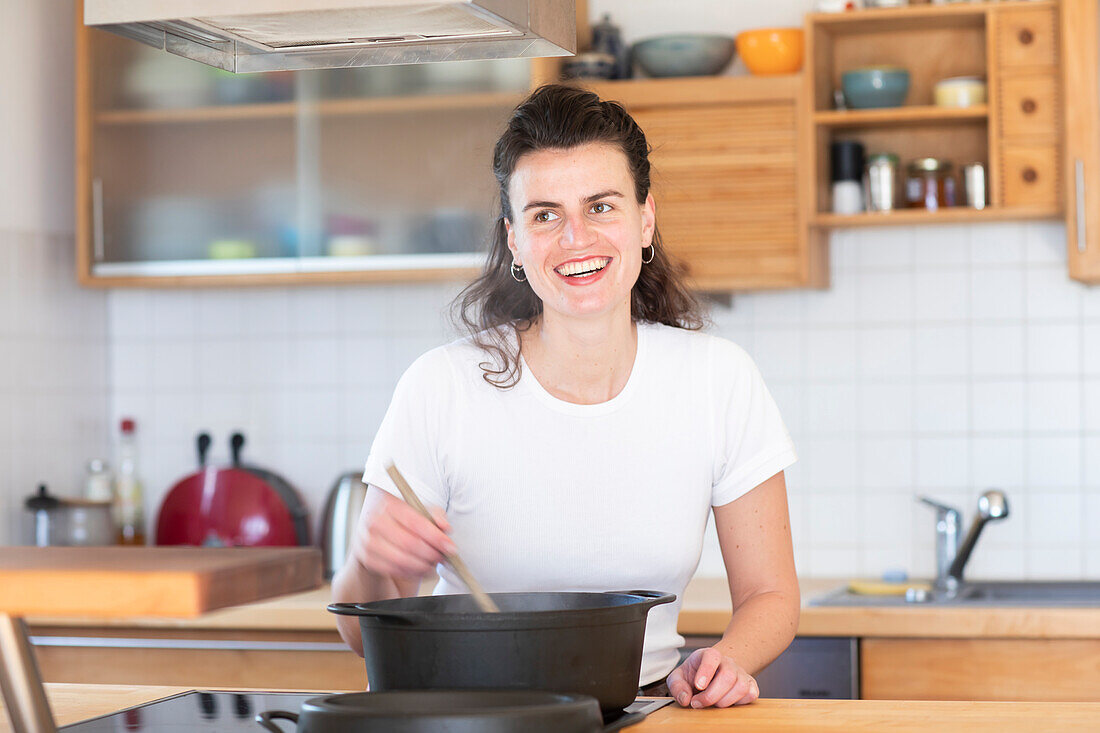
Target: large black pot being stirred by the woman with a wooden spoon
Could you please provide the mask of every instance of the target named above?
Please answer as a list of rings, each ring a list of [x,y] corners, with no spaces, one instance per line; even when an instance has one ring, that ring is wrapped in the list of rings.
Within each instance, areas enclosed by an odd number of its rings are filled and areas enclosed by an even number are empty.
[[[333,603],[359,616],[374,691],[526,689],[588,694],[604,716],[634,702],[649,610],[660,591],[491,593]]]

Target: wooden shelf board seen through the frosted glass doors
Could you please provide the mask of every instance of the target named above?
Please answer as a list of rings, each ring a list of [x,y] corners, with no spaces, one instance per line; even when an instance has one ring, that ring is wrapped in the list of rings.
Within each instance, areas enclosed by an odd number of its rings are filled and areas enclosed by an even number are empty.
[[[360,99],[326,99],[317,102],[322,117],[393,114],[403,112],[446,112],[468,109],[513,107],[524,98],[521,92],[491,91],[483,94],[424,95],[420,97],[376,97]],[[233,122],[246,120],[292,119],[302,105],[295,101],[256,105],[219,105],[180,109],[113,109],[96,114],[96,122],[107,125],[173,124],[193,122]]]

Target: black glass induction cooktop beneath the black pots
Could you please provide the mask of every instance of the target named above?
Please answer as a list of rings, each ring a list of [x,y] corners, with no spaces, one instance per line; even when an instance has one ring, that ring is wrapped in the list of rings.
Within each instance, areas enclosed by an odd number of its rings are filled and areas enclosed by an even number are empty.
[[[297,712],[302,702],[321,696],[319,692],[190,691],[65,725],[61,730],[66,733],[261,733],[263,729],[254,720],[257,712]],[[638,698],[625,713],[646,715],[670,702],[672,698]]]

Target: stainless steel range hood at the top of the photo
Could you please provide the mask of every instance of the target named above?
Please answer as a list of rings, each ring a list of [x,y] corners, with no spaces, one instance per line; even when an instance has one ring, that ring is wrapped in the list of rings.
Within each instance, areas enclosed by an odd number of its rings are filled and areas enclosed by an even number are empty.
[[[84,22],[228,72],[576,51],[574,0],[85,0]]]

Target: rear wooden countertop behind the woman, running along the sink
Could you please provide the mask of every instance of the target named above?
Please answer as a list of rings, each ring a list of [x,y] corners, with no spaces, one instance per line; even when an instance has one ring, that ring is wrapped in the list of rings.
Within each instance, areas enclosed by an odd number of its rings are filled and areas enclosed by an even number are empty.
[[[803,579],[801,636],[880,636],[934,638],[1098,638],[1100,609],[1057,608],[823,608],[807,600],[839,587],[842,579]],[[112,626],[139,628],[336,631],[326,611],[329,589],[283,595],[208,613],[198,619],[29,617],[32,626]],[[680,633],[722,634],[729,621],[724,578],[696,578],[684,592]]]

